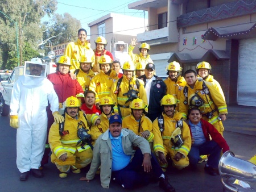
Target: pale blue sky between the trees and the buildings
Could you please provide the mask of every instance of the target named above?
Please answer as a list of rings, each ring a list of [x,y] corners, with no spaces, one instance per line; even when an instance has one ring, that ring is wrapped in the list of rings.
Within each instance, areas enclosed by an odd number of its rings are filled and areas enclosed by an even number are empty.
[[[57,14],[63,15],[64,12],[68,12],[80,20],[82,28],[88,32],[88,38],[90,35],[90,30],[88,23],[101,18],[101,16],[109,14],[109,12],[114,12],[117,14],[144,17],[142,10],[128,9],[128,4],[136,2],[138,0],[57,0]],[[147,12],[145,11],[145,16],[147,18]],[[42,21],[49,20],[48,16],[45,16]]]

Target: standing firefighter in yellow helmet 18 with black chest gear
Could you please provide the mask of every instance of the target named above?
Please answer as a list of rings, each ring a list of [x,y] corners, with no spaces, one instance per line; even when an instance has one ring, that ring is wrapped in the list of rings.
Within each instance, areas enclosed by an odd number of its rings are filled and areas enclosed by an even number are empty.
[[[115,81],[112,85],[110,97],[112,97],[116,103],[114,112],[118,113],[122,118],[125,118],[131,114],[129,105],[133,99],[138,97],[142,99],[147,106],[147,95],[144,89],[144,82],[134,76],[135,66],[133,62],[125,62],[122,69],[123,77]]]

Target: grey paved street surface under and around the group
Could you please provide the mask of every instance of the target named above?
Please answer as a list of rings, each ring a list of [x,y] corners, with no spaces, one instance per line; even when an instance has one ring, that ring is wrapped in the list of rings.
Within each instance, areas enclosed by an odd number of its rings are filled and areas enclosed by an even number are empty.
[[[256,107],[229,107],[228,119],[224,122],[224,137],[230,150],[237,157],[249,159],[256,154]],[[45,166],[44,178],[30,176],[27,181],[19,181],[16,168],[16,130],[9,126],[9,117],[0,116],[1,151],[0,151],[0,186],[1,191],[121,191],[121,187],[110,184],[110,189],[103,189],[97,176],[87,183],[79,181],[85,175],[69,173],[65,179],[59,178],[59,172],[52,163]],[[209,176],[204,173],[204,163],[199,164],[197,172],[189,169],[167,170],[167,176],[176,191],[222,191],[220,176]],[[253,185],[255,187],[255,185]],[[124,190],[127,191],[127,190]],[[158,183],[151,183],[133,191],[162,191]]]

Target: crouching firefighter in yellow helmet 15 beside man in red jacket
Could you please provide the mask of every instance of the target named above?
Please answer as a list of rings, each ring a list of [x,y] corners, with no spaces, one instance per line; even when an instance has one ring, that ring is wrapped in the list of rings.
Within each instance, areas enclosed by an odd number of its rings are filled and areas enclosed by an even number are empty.
[[[161,100],[162,116],[153,122],[154,151],[163,169],[167,168],[166,156],[170,156],[173,166],[183,169],[189,165],[188,153],[191,148],[191,135],[187,123],[175,112],[177,99],[172,95],[165,95]]]

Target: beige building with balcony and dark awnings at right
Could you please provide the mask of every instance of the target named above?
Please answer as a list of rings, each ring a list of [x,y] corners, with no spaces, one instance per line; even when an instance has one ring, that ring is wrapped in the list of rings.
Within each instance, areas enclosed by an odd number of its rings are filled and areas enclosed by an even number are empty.
[[[137,39],[150,44],[158,74],[171,61],[183,73],[208,61],[229,105],[256,106],[256,1],[142,0],[128,7],[148,11],[148,31]]]

